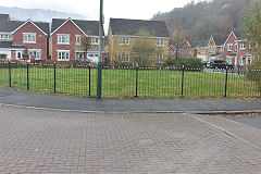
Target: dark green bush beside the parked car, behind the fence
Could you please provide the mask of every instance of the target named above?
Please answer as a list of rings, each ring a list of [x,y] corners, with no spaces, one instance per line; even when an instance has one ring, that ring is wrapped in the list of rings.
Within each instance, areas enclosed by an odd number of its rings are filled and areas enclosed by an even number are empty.
[[[184,67],[185,69],[203,69],[203,63],[198,58],[169,58],[165,61],[166,66]]]

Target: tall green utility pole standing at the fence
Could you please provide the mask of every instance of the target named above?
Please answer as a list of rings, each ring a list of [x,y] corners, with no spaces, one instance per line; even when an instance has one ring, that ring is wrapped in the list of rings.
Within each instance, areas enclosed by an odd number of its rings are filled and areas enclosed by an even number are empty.
[[[101,99],[101,72],[102,72],[102,34],[103,34],[103,0],[100,0],[100,22],[99,22],[99,62],[98,62],[98,80],[97,80],[97,98]]]

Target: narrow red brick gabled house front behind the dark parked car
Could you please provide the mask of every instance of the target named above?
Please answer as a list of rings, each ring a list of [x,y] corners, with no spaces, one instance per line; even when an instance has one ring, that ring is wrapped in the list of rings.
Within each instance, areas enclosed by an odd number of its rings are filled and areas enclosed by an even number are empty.
[[[231,33],[224,44],[224,59],[227,63],[237,64],[238,42],[234,32]]]

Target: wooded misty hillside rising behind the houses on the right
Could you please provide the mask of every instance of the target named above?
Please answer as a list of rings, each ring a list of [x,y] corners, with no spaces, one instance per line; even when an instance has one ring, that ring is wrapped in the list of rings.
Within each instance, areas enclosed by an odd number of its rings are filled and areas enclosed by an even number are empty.
[[[240,12],[252,0],[212,0],[195,3],[184,8],[173,9],[171,12],[158,13],[152,20],[165,21],[170,33],[181,21],[181,27],[188,35],[188,39],[204,40],[211,35],[224,40],[234,30],[237,36],[240,30]]]

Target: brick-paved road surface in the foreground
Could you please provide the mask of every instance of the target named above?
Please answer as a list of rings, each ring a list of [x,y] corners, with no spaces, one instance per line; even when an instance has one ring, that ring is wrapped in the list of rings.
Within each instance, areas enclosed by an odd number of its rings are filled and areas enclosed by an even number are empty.
[[[261,174],[261,139],[207,115],[0,105],[0,173]],[[222,123],[222,124],[220,124]]]

